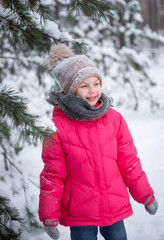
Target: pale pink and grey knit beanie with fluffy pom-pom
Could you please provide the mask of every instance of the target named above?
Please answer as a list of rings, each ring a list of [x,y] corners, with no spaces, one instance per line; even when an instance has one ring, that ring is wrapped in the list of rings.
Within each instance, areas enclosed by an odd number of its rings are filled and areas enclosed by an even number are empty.
[[[94,62],[85,55],[75,55],[66,45],[53,46],[49,53],[49,69],[59,81],[65,94],[75,94],[87,77],[96,76],[102,85],[102,77]]]

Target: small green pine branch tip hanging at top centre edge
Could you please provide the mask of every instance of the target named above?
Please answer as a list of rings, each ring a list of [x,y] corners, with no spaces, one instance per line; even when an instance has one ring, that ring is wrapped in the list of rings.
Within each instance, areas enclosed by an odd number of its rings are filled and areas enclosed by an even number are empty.
[[[76,15],[80,15],[80,12],[82,12],[84,15],[90,16],[93,19],[105,21],[108,21],[108,15],[113,15],[111,10],[114,10],[112,6],[99,0],[73,0],[68,6],[70,14],[75,12]]]

